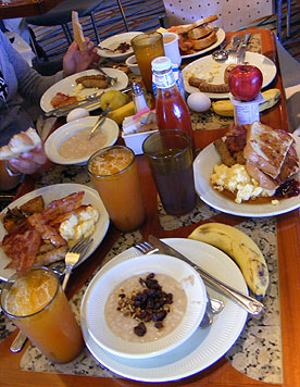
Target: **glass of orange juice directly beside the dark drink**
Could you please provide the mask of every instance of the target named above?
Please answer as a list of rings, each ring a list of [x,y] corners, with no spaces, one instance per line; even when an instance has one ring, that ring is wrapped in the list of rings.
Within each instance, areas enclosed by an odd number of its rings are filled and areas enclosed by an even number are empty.
[[[103,148],[90,157],[88,172],[113,224],[123,232],[138,228],[145,221],[145,208],[133,150]]]

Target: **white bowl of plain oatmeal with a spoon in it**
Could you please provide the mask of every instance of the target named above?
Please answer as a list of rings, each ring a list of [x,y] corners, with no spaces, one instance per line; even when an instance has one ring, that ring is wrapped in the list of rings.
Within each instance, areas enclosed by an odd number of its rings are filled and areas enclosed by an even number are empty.
[[[85,165],[92,153],[112,146],[117,139],[118,126],[110,118],[105,118],[89,139],[97,120],[98,116],[78,118],[53,132],[45,143],[48,159],[57,164]]]

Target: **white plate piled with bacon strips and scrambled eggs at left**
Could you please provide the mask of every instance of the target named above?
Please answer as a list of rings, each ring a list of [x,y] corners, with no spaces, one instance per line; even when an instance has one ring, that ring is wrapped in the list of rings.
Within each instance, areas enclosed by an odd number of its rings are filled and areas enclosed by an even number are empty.
[[[91,235],[91,246],[80,260],[84,262],[100,245],[110,224],[98,192],[80,184],[57,184],[28,192],[0,216],[2,280],[16,270],[63,260],[76,240]]]

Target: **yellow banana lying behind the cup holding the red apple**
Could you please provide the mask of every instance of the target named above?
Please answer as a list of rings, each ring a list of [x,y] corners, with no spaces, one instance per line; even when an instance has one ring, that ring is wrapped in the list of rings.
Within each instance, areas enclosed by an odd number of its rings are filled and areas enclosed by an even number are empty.
[[[260,103],[260,112],[273,108],[280,99],[279,89],[270,89],[262,92],[264,101]],[[234,105],[230,100],[224,99],[212,103],[213,111],[226,117],[234,116]]]

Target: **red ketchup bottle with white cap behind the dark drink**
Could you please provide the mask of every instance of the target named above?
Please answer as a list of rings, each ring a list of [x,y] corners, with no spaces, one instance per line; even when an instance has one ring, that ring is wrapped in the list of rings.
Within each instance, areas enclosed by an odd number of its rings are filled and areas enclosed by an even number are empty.
[[[195,150],[189,110],[177,88],[171,60],[166,57],[159,57],[151,64],[157,86],[155,111],[159,129],[187,132],[191,137]]]

